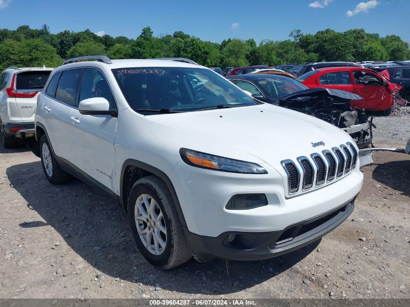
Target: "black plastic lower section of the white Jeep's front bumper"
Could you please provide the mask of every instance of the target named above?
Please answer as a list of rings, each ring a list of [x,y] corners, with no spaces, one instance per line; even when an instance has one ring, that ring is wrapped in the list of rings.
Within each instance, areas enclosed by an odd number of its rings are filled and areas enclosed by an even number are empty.
[[[336,210],[281,231],[225,232],[218,237],[207,237],[186,230],[185,237],[199,261],[273,258],[306,246],[342,224],[352,213],[355,198]]]

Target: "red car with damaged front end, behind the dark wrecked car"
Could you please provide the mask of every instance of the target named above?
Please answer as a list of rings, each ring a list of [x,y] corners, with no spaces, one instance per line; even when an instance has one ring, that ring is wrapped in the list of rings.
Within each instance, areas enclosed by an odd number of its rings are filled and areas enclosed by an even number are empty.
[[[352,100],[350,105],[372,115],[392,113],[394,94],[400,89],[383,75],[361,67],[319,68],[296,80],[310,88],[326,87],[357,94],[363,100]]]

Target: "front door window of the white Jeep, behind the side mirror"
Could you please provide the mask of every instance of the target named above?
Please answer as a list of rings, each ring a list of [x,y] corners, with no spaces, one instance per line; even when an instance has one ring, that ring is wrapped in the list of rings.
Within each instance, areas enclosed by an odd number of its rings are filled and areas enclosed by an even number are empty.
[[[103,97],[110,103],[110,109],[115,110],[114,97],[107,81],[98,69],[86,68],[81,82],[80,101]]]

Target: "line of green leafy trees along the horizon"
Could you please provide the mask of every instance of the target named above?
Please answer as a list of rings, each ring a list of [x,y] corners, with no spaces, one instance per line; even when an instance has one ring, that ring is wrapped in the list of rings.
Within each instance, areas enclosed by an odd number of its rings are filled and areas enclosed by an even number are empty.
[[[84,55],[107,55],[111,59],[159,57],[189,58],[208,67],[303,64],[322,61],[409,60],[409,43],[400,36],[366,33],[363,29],[316,34],[294,30],[282,41],[229,38],[220,44],[203,41],[182,31],[154,36],[150,27],[133,38],[98,36],[90,30],[53,34],[47,25],[31,29],[0,30],[0,69],[8,66],[57,67],[63,59]]]

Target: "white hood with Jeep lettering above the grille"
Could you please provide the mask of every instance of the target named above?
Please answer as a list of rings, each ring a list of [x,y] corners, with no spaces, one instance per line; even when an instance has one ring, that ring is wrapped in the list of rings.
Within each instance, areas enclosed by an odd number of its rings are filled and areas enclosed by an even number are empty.
[[[164,125],[162,137],[172,139],[174,146],[238,160],[251,155],[272,166],[352,142],[346,133],[325,121],[270,104],[146,118]],[[318,142],[325,145],[313,148]],[[259,159],[246,161],[258,163]]]

